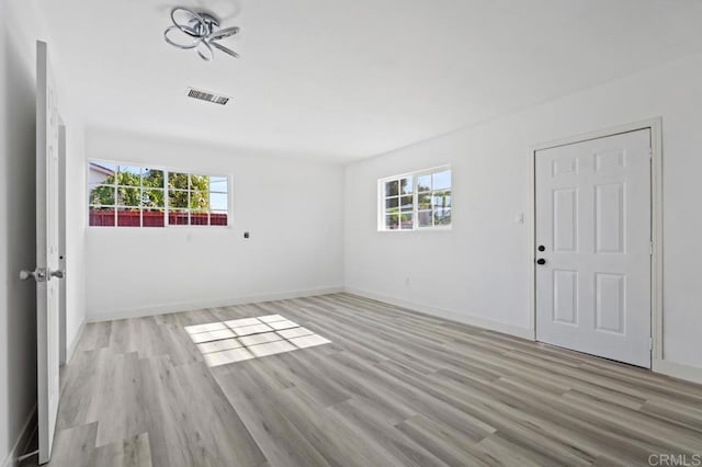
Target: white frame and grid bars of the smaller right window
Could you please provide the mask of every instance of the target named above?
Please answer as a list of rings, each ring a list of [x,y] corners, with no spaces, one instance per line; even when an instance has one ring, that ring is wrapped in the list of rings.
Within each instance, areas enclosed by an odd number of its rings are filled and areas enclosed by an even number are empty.
[[[451,186],[449,189],[449,191],[451,192],[451,224],[448,225],[433,225],[433,220],[432,220],[432,225],[431,226],[420,226],[419,225],[419,183],[418,180],[420,176],[424,176],[424,175],[432,175],[434,173],[440,173],[440,172],[445,172],[445,171],[450,171],[451,172]],[[393,182],[393,181],[397,181],[398,182],[398,193],[397,193],[397,198],[398,198],[398,213],[400,215],[400,226],[401,226],[401,197],[403,194],[400,193],[401,191],[401,183],[400,181],[403,179],[408,179],[411,178],[412,180],[412,227],[411,228],[406,228],[403,229],[401,227],[397,228],[397,229],[389,229],[386,227],[385,225],[385,218],[386,218],[386,200],[394,197],[394,196],[386,196],[385,195],[385,184],[388,182]],[[433,197],[433,186],[432,190],[429,192],[431,193],[431,196]],[[423,192],[422,192],[423,193]],[[405,195],[405,196],[409,196],[409,195]],[[405,173],[400,173],[397,175],[392,175],[392,176],[385,176],[383,179],[380,179],[377,181],[377,231],[378,232],[415,232],[415,231],[446,231],[446,230],[452,230],[453,228],[453,210],[454,210],[454,200],[453,200],[453,170],[451,169],[451,164],[445,164],[445,166],[437,166],[437,167],[432,167],[429,169],[422,169],[422,170],[417,170],[414,172],[405,172]],[[433,219],[433,207],[432,207],[432,219]]]

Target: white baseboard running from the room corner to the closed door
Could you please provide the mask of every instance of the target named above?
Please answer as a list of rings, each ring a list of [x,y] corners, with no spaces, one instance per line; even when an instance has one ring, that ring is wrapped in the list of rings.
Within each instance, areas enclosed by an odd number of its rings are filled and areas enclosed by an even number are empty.
[[[475,326],[477,328],[489,329],[490,331],[502,332],[505,334],[516,335],[518,338],[534,340],[534,330],[529,328],[520,328],[519,326],[509,324],[507,322],[494,321],[475,315],[456,312],[453,310],[438,308],[430,305],[418,304],[416,301],[404,300],[401,298],[390,297],[388,295],[376,294],[374,292],[361,291],[353,287],[346,287],[344,292],[359,295],[361,297],[373,300],[384,301],[386,304],[419,311],[426,315],[437,316],[439,318],[449,319],[451,321],[462,322],[464,324]]]

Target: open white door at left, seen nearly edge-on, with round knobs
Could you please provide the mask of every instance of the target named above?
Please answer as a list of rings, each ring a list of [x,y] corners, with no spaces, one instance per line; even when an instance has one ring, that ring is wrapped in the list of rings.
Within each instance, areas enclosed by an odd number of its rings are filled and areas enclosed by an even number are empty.
[[[39,464],[50,459],[59,399],[59,117],[46,43],[36,45],[36,281]]]

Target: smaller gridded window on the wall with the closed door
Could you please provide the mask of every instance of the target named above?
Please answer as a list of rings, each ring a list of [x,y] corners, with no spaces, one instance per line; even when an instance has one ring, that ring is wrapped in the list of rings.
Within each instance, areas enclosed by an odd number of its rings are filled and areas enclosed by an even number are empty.
[[[451,169],[443,167],[380,181],[378,230],[451,226]]]

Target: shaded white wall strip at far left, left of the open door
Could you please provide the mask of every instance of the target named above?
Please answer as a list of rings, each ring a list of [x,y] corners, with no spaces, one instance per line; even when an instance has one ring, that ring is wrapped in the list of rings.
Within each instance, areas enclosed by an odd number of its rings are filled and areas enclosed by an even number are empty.
[[[36,401],[35,288],[21,269],[35,264],[32,49],[0,10],[0,465],[14,448]],[[11,32],[12,31],[12,32]]]

